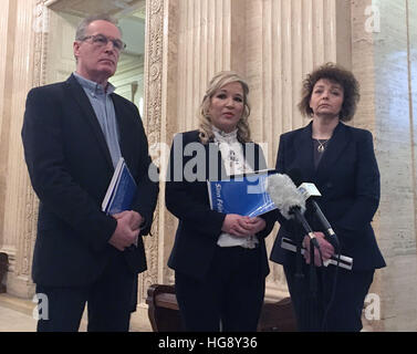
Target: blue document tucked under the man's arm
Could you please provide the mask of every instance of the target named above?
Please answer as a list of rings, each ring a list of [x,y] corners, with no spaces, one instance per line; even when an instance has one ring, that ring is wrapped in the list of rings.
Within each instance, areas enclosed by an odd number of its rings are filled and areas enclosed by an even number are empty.
[[[121,157],[104,197],[102,210],[107,215],[131,210],[136,191],[136,181]]]

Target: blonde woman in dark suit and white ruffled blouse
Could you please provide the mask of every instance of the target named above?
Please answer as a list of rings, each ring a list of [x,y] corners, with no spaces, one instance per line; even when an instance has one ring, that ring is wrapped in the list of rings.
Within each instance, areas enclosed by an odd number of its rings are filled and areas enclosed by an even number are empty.
[[[178,218],[168,266],[186,331],[256,331],[269,272],[272,212],[249,218],[210,209],[207,179],[265,168],[251,142],[249,87],[234,72],[209,83],[199,129],[174,138],[166,206]]]

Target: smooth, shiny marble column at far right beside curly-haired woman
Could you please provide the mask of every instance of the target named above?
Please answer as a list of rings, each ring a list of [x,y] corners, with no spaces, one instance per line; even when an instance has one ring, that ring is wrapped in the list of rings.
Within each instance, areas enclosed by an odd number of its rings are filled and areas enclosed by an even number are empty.
[[[415,331],[416,254],[416,37],[415,1],[353,2],[353,69],[362,83],[355,125],[374,134],[380,204],[374,218],[387,268],[371,293],[380,299],[373,330]]]

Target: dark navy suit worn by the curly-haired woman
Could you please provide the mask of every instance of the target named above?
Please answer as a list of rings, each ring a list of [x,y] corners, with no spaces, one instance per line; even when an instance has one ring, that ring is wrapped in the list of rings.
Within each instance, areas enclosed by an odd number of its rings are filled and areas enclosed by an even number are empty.
[[[305,232],[294,221],[281,223],[271,260],[284,266],[300,331],[361,331],[361,314],[374,271],[386,266],[371,226],[379,204],[372,134],[338,123],[316,169],[313,148],[312,123],[281,135],[277,169],[290,175],[300,170],[303,181],[315,184],[322,194],[317,202],[338,237],[341,253],[353,258],[353,270],[336,272],[336,267],[329,266],[311,275],[313,268],[281,248],[282,237],[303,239]],[[314,231],[323,231],[312,215],[306,212],[306,217]],[[314,278],[316,285],[311,281]]]

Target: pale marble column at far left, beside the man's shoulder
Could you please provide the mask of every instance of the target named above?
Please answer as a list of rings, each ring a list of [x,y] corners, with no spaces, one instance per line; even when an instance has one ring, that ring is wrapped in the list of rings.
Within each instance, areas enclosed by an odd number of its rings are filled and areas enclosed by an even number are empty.
[[[6,185],[2,220],[2,250],[9,253],[8,292],[30,298],[33,293],[31,260],[35,237],[37,201],[31,188],[23,159],[20,131],[23,122],[24,102],[33,86],[35,61],[34,0],[10,2],[9,31],[13,40],[8,42],[7,81],[4,94],[10,95],[2,115],[2,178]],[[13,14],[12,11],[15,11]],[[4,101],[6,103],[7,101]]]

